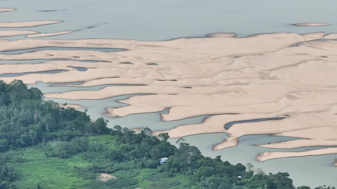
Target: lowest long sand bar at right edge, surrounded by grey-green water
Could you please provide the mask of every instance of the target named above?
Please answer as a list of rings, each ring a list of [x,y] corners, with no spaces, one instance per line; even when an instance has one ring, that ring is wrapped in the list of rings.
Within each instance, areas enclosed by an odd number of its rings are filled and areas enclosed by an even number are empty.
[[[308,150],[304,152],[264,152],[256,156],[257,161],[267,161],[268,159],[276,159],[282,157],[301,157],[310,155],[325,155],[325,154],[337,154],[337,148],[321,148],[315,150]]]

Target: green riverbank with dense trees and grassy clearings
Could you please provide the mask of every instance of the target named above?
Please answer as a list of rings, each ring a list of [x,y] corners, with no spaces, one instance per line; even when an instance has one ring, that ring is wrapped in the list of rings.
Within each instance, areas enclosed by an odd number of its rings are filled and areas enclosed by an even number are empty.
[[[183,138],[151,136],[0,81],[0,189],[295,189],[288,173],[205,157]],[[163,165],[158,159],[168,157]],[[300,186],[297,189],[310,189]],[[334,189],[319,186],[315,189]]]

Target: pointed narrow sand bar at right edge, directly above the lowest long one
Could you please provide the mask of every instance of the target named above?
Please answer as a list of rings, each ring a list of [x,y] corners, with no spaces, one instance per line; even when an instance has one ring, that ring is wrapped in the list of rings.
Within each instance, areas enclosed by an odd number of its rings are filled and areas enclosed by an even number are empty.
[[[277,135],[274,135],[277,136]],[[277,148],[277,149],[294,149],[309,146],[337,146],[337,140],[312,140],[312,139],[298,139],[282,142],[269,143],[264,145],[254,145],[264,148]]]

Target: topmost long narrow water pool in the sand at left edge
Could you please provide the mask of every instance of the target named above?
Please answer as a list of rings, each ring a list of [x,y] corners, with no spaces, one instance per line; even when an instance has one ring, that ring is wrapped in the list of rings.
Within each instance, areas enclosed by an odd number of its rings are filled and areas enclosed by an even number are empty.
[[[27,52],[33,52],[36,50],[94,50],[101,52],[113,52],[121,51],[124,49],[120,48],[86,48],[86,47],[37,47],[37,48],[27,48],[27,49],[18,49],[18,50],[7,50],[2,51],[0,54],[22,54]]]

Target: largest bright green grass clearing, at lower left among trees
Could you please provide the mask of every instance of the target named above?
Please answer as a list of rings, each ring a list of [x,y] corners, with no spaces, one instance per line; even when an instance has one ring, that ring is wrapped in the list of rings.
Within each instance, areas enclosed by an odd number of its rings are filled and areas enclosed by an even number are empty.
[[[34,148],[24,148],[13,152],[22,154],[24,162],[12,162],[18,174],[14,184],[18,189],[36,188],[40,184],[42,189],[73,189],[86,185],[89,181],[82,179],[74,166],[85,167],[90,162],[73,156],[68,159],[58,157],[44,157],[44,152]]]

